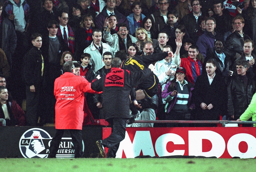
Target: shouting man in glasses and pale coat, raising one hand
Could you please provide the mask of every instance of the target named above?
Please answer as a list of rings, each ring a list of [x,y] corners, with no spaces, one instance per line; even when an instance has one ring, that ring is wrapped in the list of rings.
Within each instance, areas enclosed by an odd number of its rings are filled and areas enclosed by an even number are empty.
[[[103,39],[110,45],[113,54],[119,50],[123,50],[127,53],[127,45],[136,43],[138,39],[128,34],[129,31],[125,23],[119,25],[117,34],[110,34],[110,29],[112,27],[113,22],[107,21],[107,29],[103,32]]]

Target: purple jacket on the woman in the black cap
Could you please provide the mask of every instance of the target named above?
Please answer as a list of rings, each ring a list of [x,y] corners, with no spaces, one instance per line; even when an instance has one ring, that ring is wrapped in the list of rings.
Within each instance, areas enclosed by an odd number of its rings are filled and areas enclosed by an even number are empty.
[[[162,98],[165,99],[167,97],[170,97],[171,94],[173,93],[173,91],[170,91],[168,92],[168,87],[169,85],[171,84],[171,81],[169,81],[166,85],[165,85],[165,88],[163,89],[163,92],[162,92]],[[190,100],[191,100],[191,96],[192,96],[192,93],[191,91],[194,90],[194,87],[193,87],[193,84],[188,82],[188,88],[189,88],[189,99],[187,101],[187,107],[191,108],[191,109],[194,109],[195,108],[195,104],[194,103],[190,103]],[[174,90],[177,90],[177,84],[175,82],[175,89]],[[166,108],[166,113],[169,113],[171,111],[171,109],[173,109],[173,106],[175,104],[175,102],[177,101],[177,94],[174,96],[174,98],[170,101],[170,102],[167,102],[166,101],[166,104],[168,103],[169,105],[168,106],[168,109]]]

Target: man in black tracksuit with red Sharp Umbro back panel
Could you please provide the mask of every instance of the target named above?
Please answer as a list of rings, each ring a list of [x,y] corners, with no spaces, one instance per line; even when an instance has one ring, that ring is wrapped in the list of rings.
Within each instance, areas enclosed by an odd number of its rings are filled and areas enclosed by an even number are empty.
[[[108,138],[96,142],[104,158],[106,156],[104,147],[109,148],[107,158],[115,158],[119,143],[125,138],[126,121],[130,118],[131,90],[152,73],[150,69],[135,73],[121,69],[122,62],[117,57],[112,59],[111,67],[111,71],[105,77],[91,83],[93,90],[103,91],[104,118],[112,128]]]

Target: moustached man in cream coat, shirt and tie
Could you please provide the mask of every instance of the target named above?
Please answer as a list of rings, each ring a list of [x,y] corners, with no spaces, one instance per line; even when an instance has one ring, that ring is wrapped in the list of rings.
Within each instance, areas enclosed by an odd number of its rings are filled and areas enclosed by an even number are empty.
[[[112,50],[107,43],[103,43],[101,41],[102,32],[100,29],[93,30],[92,34],[93,42],[83,52],[91,55],[89,64],[92,66],[92,69],[95,73],[105,65],[104,61],[102,61],[102,55],[107,51],[112,53]]]

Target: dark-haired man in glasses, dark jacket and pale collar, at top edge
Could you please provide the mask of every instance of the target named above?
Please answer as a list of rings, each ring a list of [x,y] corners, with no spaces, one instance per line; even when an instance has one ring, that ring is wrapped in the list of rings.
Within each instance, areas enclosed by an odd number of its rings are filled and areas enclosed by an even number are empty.
[[[202,2],[200,0],[192,0],[191,6],[192,6],[192,13],[185,15],[182,18],[182,21],[180,24],[185,26],[185,29],[187,30],[189,37],[195,40],[196,42],[198,39],[196,33],[200,29],[200,26],[199,26],[200,23],[198,18],[202,16],[202,12],[201,12]]]

